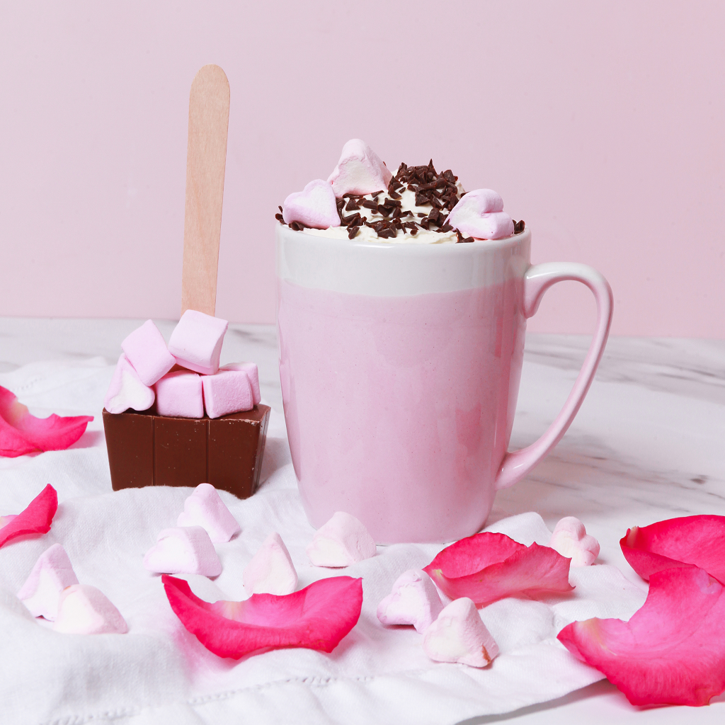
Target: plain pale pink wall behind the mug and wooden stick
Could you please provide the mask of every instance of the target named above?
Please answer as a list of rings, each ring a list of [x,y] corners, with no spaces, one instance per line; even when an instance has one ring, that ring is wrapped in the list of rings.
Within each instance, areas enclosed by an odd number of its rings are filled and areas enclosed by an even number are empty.
[[[0,315],[178,317],[188,90],[231,114],[217,314],[275,317],[273,215],[359,137],[502,194],[587,262],[613,332],[725,337],[725,4],[97,2],[0,8]],[[587,332],[552,291],[530,329]]]

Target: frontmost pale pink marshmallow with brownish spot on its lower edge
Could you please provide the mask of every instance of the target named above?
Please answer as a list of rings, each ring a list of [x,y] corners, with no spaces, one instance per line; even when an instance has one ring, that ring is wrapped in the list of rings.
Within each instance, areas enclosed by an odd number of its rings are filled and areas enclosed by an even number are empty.
[[[423,634],[423,650],[436,662],[460,662],[471,667],[490,665],[498,645],[468,597],[452,601]]]

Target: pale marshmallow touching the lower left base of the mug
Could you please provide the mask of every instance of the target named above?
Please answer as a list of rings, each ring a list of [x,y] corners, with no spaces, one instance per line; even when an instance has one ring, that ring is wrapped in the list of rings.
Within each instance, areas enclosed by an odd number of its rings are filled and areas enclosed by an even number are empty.
[[[315,566],[349,566],[375,556],[373,537],[355,516],[337,511],[315,531],[307,547],[307,556]]]

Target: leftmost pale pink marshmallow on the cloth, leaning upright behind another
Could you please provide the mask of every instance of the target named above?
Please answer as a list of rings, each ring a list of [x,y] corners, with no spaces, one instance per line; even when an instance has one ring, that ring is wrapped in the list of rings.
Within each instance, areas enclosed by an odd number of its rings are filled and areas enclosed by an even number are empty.
[[[53,544],[38,557],[36,566],[17,592],[17,598],[25,602],[34,617],[54,621],[58,615],[60,595],[71,584],[78,584],[78,577],[70,559],[60,544]]]

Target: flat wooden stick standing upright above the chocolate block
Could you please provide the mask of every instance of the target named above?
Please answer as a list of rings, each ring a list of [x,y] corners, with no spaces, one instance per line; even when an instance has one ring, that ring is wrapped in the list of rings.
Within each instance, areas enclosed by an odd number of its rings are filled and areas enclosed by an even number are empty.
[[[228,126],[229,81],[218,65],[205,65],[188,99],[182,315],[199,310],[213,316],[216,308]]]

